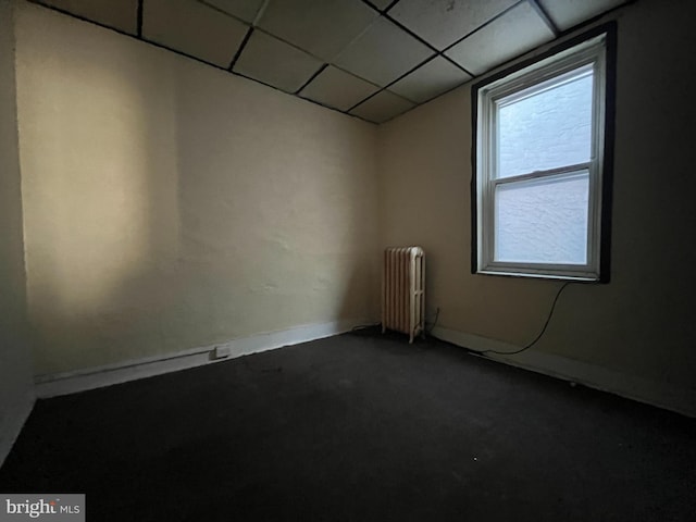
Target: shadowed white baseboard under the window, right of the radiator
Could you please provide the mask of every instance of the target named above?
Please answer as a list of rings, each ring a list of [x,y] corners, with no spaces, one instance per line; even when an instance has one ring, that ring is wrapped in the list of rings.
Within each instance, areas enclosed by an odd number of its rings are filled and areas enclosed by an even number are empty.
[[[436,326],[432,335],[472,351],[513,351],[520,349],[519,346],[509,343],[465,334],[442,326]],[[486,357],[498,362],[579,383],[591,388],[609,391],[627,399],[696,418],[696,391],[691,389],[635,375],[626,375],[602,366],[533,350],[523,351],[515,356],[486,353]]]

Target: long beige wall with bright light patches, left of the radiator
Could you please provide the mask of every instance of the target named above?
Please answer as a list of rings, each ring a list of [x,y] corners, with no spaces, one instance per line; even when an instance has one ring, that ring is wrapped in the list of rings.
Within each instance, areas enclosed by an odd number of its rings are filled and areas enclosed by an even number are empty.
[[[378,316],[375,126],[23,4],[37,374]]]

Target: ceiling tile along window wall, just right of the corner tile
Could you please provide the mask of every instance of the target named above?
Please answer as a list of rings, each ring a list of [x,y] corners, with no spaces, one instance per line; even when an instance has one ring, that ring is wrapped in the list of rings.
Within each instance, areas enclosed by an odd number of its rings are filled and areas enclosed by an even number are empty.
[[[471,76],[457,65],[436,57],[389,86],[389,90],[417,103],[423,103],[470,79]]]

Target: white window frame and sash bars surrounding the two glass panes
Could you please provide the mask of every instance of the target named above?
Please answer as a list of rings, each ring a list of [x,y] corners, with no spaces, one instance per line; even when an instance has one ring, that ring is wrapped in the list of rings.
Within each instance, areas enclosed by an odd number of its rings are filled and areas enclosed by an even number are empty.
[[[574,76],[581,69],[592,69],[593,124],[591,159],[581,164],[563,165],[546,171],[497,177],[496,114],[499,103],[523,99],[546,88],[559,85]],[[504,74],[493,82],[474,89],[476,116],[475,144],[475,201],[474,273],[550,277],[580,281],[604,281],[602,266],[602,194],[605,178],[605,129],[607,117],[607,34],[600,33],[574,47],[551,54],[536,63]],[[505,104],[505,103],[502,103]],[[502,105],[501,105],[502,107]],[[587,214],[587,263],[551,264],[508,262],[495,260],[495,188],[510,183],[529,183],[538,179],[570,178],[579,171],[589,173]],[[606,231],[605,231],[606,232]]]

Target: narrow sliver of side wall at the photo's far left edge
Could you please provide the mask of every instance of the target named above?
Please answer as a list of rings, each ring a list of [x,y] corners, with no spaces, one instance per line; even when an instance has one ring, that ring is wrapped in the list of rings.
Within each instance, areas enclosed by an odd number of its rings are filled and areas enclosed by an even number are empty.
[[[0,465],[34,401],[14,79],[12,4],[0,0]]]

